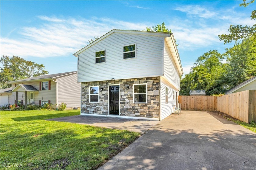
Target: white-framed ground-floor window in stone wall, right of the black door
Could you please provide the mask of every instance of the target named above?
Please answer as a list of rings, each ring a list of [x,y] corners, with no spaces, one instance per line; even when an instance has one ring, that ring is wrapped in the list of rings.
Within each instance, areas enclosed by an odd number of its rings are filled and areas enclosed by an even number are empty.
[[[133,102],[147,103],[147,84],[133,85]]]

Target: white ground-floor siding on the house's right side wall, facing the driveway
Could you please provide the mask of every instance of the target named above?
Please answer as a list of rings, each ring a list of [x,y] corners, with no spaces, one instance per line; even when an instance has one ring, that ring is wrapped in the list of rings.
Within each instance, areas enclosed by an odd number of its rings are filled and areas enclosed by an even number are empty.
[[[166,103],[166,88],[168,88],[168,103]],[[173,99],[174,91],[174,99]],[[165,79],[161,78],[161,119],[163,120],[167,116],[173,113],[173,107],[176,106],[176,92],[175,88]]]

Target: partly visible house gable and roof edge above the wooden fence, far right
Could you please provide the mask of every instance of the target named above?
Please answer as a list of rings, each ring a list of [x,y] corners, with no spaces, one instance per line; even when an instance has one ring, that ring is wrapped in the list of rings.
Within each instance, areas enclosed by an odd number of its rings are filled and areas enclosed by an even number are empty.
[[[228,95],[236,92],[242,92],[245,90],[256,90],[256,77],[250,78],[249,80],[246,80],[239,85],[236,85],[235,87],[226,91],[225,94]]]

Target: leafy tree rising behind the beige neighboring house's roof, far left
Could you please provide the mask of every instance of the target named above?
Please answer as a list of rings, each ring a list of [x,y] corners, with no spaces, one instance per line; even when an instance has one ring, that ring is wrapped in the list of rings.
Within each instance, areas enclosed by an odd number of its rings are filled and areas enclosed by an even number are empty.
[[[1,89],[11,87],[11,85],[6,84],[6,82],[48,74],[43,64],[27,61],[17,56],[2,56],[0,62]]]

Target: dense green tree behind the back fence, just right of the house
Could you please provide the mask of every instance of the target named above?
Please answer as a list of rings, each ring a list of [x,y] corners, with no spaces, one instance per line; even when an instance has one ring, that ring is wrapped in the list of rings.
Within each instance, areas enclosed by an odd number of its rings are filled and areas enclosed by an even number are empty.
[[[226,91],[222,79],[225,75],[223,56],[217,50],[209,50],[198,57],[190,73],[181,80],[180,95],[189,95],[190,90],[205,90],[206,95]]]

